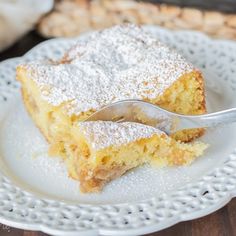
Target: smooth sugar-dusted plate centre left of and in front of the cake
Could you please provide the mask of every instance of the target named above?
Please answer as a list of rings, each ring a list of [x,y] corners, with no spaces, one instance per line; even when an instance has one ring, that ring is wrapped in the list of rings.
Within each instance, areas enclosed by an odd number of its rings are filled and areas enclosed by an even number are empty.
[[[201,173],[196,162],[194,166],[178,168],[143,166],[112,181],[101,193],[82,194],[79,182],[68,177],[65,163],[47,155],[48,145],[22,102],[7,117],[0,137],[1,155],[20,182],[31,186],[36,194],[69,202],[107,204],[142,200],[179,188]],[[35,154],[39,155],[35,158]],[[207,158],[202,160],[205,163]]]

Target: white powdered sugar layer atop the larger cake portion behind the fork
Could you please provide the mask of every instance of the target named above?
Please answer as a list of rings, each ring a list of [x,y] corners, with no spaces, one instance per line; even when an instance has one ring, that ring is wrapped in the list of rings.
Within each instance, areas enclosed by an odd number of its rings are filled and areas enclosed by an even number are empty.
[[[182,56],[134,25],[90,34],[66,62],[27,65],[42,97],[69,115],[124,99],[154,99],[193,70]]]

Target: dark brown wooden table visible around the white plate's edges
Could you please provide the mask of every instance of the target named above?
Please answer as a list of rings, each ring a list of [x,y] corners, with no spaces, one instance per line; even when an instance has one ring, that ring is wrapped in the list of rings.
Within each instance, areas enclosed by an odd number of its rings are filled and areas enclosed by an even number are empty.
[[[26,35],[17,44],[4,53],[0,61],[22,56],[34,45],[44,39],[35,32]],[[46,236],[41,232],[19,230],[0,224],[0,236]],[[79,234],[78,234],[79,235]],[[155,236],[236,236],[236,199],[213,214],[197,220],[186,221],[150,235]]]

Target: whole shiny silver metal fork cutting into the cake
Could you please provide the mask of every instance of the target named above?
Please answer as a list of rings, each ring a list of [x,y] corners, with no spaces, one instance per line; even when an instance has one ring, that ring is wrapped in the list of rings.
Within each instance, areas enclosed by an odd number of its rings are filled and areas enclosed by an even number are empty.
[[[181,115],[137,99],[109,104],[86,121],[138,122],[154,126],[167,134],[178,130],[207,128],[236,122],[236,108],[204,115]]]

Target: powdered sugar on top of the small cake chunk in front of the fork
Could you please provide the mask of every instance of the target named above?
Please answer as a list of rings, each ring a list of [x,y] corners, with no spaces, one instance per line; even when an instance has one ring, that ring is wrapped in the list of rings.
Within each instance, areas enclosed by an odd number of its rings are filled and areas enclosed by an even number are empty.
[[[165,135],[159,129],[134,122],[86,121],[80,122],[79,127],[95,150],[121,146],[154,134]]]

